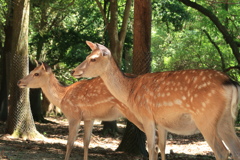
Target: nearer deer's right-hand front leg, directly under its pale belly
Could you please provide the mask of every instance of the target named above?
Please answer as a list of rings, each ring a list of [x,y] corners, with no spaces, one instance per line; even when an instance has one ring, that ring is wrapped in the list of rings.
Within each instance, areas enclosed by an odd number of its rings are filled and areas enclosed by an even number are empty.
[[[167,131],[161,127],[158,127],[158,147],[161,151],[161,160],[166,160],[165,148],[167,140]]]

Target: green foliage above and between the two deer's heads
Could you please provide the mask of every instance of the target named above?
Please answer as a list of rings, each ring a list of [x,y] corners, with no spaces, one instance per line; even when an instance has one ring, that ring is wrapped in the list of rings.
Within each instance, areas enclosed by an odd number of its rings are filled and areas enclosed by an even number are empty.
[[[100,42],[104,31],[94,1],[71,2],[34,1],[31,10],[30,55],[52,66],[66,84],[76,81],[69,71],[89,53],[85,41]]]

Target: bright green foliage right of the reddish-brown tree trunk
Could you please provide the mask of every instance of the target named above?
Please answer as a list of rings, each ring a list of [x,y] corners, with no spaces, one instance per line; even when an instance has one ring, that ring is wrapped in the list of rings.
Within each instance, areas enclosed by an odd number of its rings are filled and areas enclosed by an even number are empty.
[[[231,35],[236,37],[236,41],[239,40],[239,4],[226,6],[208,4],[206,1],[198,3],[219,17]],[[230,46],[225,43],[222,34],[209,18],[176,0],[156,1],[153,6],[153,12],[157,12],[153,14],[152,27],[153,72],[190,68],[224,70],[237,65]],[[222,57],[203,30],[219,47]],[[239,79],[237,71],[233,70],[228,74]]]

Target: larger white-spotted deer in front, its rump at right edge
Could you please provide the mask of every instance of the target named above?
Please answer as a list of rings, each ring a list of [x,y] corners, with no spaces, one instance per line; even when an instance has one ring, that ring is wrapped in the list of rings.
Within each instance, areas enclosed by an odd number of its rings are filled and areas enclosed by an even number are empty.
[[[72,75],[100,76],[112,95],[135,114],[147,136],[149,160],[157,159],[155,129],[162,160],[166,159],[167,132],[201,132],[217,160],[226,160],[228,149],[233,159],[240,160],[240,141],[234,129],[240,90],[228,76],[215,70],[192,69],[128,78],[108,48],[89,41],[87,45],[92,52]]]

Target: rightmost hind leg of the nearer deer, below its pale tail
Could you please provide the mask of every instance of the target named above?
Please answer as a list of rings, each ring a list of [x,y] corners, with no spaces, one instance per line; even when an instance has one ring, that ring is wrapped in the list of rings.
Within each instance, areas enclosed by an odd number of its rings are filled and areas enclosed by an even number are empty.
[[[230,111],[222,116],[218,124],[218,133],[224,141],[234,160],[240,160],[240,140],[236,135],[234,120]]]

